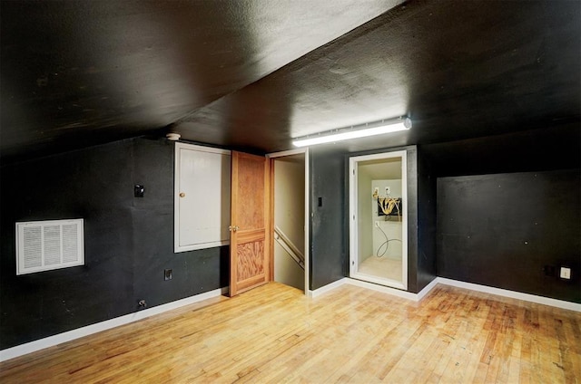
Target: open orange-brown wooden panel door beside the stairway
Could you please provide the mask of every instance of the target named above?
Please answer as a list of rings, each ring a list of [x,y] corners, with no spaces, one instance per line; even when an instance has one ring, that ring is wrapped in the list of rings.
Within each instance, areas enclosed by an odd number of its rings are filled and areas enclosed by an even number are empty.
[[[267,158],[232,151],[230,295],[270,281]]]

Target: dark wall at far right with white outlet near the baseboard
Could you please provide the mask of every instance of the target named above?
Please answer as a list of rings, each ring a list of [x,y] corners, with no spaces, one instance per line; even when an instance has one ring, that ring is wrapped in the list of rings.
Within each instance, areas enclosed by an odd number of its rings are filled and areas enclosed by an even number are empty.
[[[438,275],[581,302],[580,191],[578,169],[438,178]]]

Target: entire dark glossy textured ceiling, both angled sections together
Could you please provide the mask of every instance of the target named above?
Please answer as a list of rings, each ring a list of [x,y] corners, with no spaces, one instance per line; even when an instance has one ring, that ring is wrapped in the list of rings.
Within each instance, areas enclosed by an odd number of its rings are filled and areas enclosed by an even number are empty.
[[[581,3],[400,3],[2,1],[2,158],[167,130],[272,152],[402,115],[342,145],[578,130]]]

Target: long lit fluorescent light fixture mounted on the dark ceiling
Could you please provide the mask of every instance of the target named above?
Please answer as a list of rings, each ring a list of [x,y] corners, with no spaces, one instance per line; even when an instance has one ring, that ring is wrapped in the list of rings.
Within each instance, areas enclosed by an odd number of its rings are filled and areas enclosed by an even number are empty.
[[[369,123],[360,126],[330,130],[316,135],[305,136],[297,138],[292,141],[295,147],[307,147],[310,145],[330,143],[333,141],[365,138],[368,136],[382,135],[389,132],[397,132],[399,130],[409,130],[411,128],[411,120],[409,118],[397,120],[381,120],[376,123]]]

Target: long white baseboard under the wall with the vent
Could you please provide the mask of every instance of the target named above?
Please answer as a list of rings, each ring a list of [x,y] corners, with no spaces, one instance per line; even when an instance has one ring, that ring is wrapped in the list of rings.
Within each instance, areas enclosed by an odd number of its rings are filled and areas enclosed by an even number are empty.
[[[146,317],[150,317],[162,312],[172,311],[185,305],[193,304],[194,302],[202,302],[202,300],[207,300],[211,299],[212,297],[221,296],[224,292],[228,293],[228,287],[218,288],[210,292],[196,294],[195,296],[186,297],[185,299],[176,300],[175,302],[168,302],[166,304],[158,305],[156,307],[144,309],[143,311],[140,312],[126,314],[111,320],[97,322],[95,324],[87,325],[82,328],[77,328],[76,330],[73,331],[66,331],[63,333],[56,334],[54,336],[46,337],[44,339],[30,341],[21,345],[16,345],[15,347],[12,348],[0,350],[0,361],[14,359],[18,356],[35,352],[36,350],[44,350],[45,348],[54,347],[55,345],[61,344],[66,341],[73,341],[75,339],[79,339],[84,336],[88,336],[100,331],[110,330],[114,327],[119,327],[120,325],[128,324],[130,322],[137,322],[139,320],[145,319]]]

